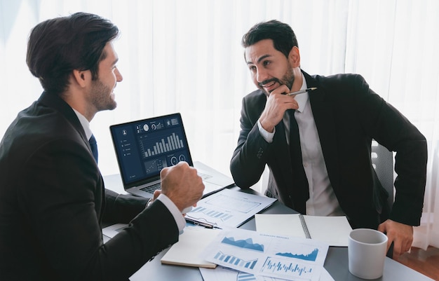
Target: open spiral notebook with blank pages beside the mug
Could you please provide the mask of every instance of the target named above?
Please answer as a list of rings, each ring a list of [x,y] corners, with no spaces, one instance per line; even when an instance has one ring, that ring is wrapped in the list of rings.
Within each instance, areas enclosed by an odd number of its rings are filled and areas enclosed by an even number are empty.
[[[352,231],[344,216],[320,217],[303,214],[255,214],[261,233],[310,238],[330,246],[347,247]]]

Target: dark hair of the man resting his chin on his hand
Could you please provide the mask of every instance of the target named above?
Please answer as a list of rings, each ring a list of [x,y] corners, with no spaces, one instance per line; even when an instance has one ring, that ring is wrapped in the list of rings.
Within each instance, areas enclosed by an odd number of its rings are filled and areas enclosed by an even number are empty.
[[[278,20],[270,20],[268,22],[259,22],[244,34],[242,45],[244,48],[264,40],[271,39],[273,46],[285,57],[288,57],[292,47],[299,47],[295,33],[291,27]]]

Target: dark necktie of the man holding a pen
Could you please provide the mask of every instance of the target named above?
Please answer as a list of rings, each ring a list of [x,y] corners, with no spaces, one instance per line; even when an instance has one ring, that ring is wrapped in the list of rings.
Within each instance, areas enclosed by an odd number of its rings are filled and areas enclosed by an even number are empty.
[[[292,164],[292,203],[294,209],[301,214],[306,214],[306,200],[309,199],[308,179],[302,160],[300,149],[299,126],[295,118],[295,110],[289,109],[290,114],[290,156]]]

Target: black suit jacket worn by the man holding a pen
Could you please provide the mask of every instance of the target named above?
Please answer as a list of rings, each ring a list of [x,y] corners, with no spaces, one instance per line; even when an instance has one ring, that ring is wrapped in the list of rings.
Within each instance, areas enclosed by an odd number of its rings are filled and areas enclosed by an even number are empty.
[[[303,72],[304,73],[304,72]],[[309,101],[332,189],[353,227],[377,228],[388,193],[370,160],[371,140],[396,151],[396,198],[390,219],[420,223],[426,182],[426,139],[398,110],[374,93],[355,74],[309,76],[304,73]],[[231,159],[236,185],[247,189],[269,167],[268,196],[294,209],[292,166],[283,122],[271,144],[259,134],[257,120],[266,104],[261,90],[243,98],[241,133]]]

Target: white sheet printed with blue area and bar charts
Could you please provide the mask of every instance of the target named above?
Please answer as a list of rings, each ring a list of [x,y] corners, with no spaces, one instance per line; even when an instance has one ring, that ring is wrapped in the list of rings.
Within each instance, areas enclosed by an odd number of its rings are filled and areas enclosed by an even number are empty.
[[[319,281],[328,248],[312,239],[234,228],[219,233],[203,258],[257,276]]]

